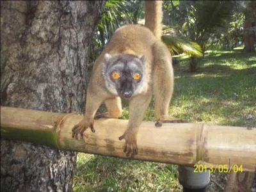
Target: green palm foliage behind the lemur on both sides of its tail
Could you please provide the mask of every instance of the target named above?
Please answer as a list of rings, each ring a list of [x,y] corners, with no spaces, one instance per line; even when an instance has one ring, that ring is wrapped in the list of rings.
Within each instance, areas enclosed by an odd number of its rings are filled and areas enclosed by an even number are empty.
[[[234,48],[243,40],[245,7],[242,1],[164,1],[162,40],[172,55],[192,56],[189,65],[195,71],[205,50]],[[118,27],[136,24],[143,17],[143,1],[106,1],[95,33],[92,62]]]

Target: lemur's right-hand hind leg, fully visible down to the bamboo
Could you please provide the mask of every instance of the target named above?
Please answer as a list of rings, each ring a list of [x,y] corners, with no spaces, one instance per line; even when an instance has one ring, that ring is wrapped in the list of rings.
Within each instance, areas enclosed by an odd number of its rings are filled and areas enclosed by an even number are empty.
[[[154,69],[153,69],[153,92],[156,126],[167,122],[182,122],[179,118],[172,118],[168,113],[170,100],[172,99],[174,74],[170,51],[158,41],[154,44]]]

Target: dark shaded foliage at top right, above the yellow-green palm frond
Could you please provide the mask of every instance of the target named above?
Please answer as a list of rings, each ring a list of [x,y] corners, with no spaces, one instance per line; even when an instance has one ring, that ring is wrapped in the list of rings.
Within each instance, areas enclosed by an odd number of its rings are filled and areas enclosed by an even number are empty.
[[[164,24],[211,48],[233,48],[243,40],[244,1],[164,1]]]

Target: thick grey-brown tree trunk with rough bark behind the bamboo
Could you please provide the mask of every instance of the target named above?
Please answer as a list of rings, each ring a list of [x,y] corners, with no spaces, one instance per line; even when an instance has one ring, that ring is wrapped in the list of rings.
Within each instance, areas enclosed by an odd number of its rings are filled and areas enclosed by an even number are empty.
[[[82,113],[103,5],[1,1],[1,105]],[[71,191],[75,163],[75,152],[1,139],[1,191]]]

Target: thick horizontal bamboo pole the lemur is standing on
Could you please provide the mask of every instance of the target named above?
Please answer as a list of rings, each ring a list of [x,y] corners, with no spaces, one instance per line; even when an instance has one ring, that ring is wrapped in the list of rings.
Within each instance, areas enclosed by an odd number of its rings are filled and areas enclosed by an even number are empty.
[[[83,140],[75,140],[71,129],[82,118],[74,113],[1,107],[1,138],[128,158],[123,152],[124,141],[118,140],[127,120],[95,120],[96,132],[88,129]],[[163,124],[159,128],[153,122],[143,122],[135,159],[187,166],[203,164],[216,171],[226,164],[234,171],[241,166],[243,171],[255,171],[256,129],[191,123]]]

